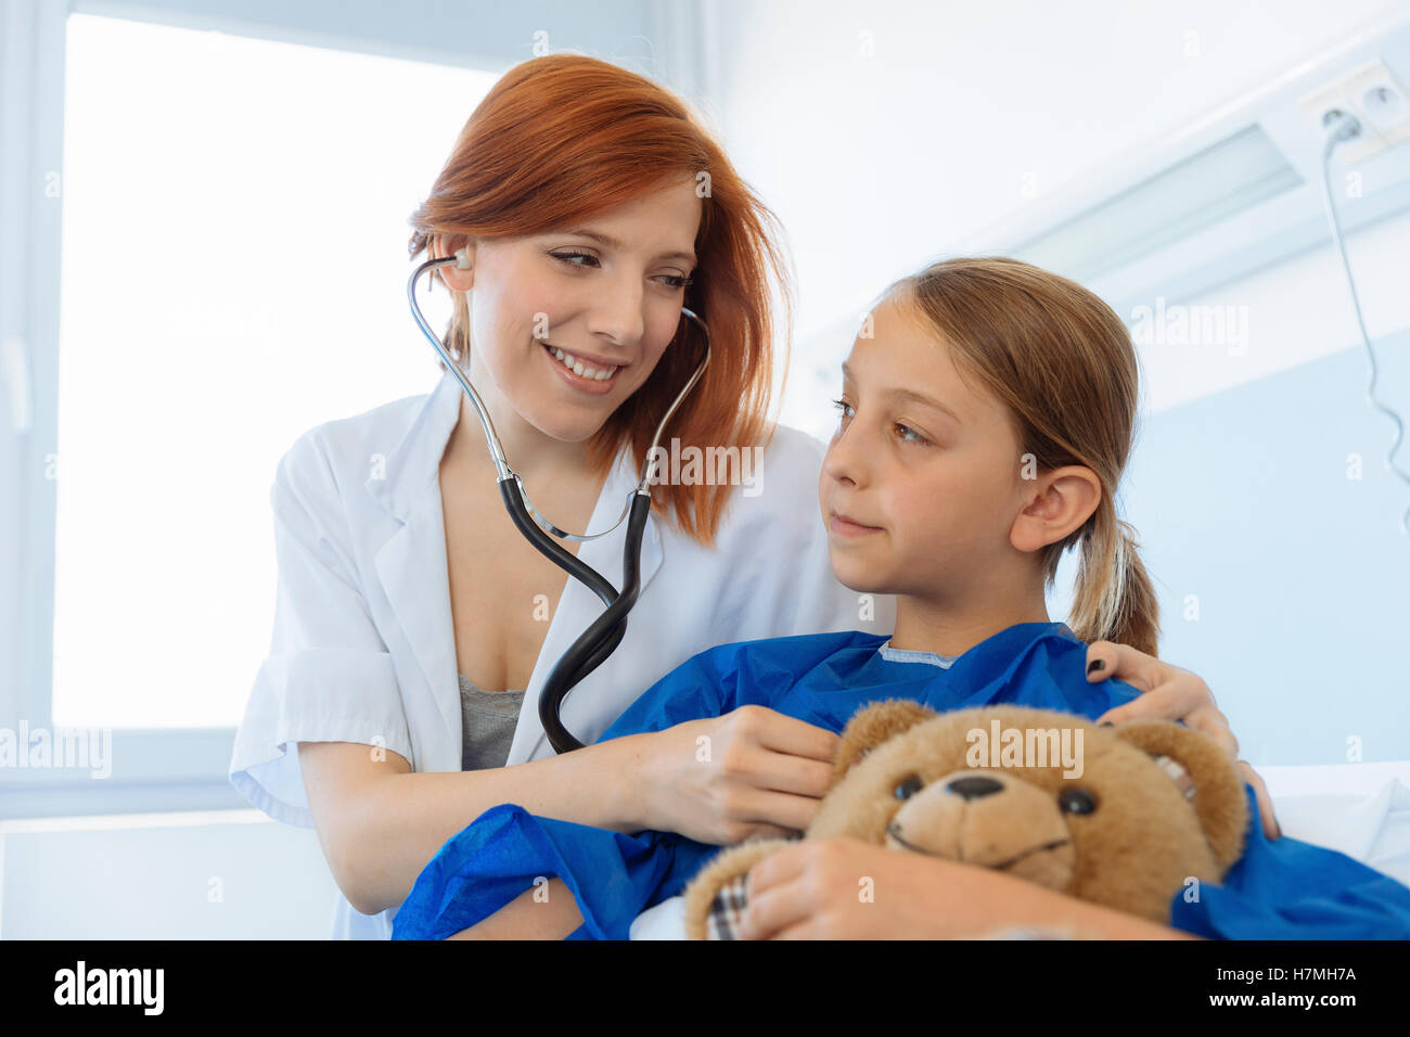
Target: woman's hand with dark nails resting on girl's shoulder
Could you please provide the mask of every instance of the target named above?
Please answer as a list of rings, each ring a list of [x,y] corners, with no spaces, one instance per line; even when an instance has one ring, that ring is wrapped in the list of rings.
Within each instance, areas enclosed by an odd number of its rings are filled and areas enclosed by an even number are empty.
[[[1107,710],[1097,718],[1098,724],[1104,721],[1121,724],[1141,718],[1179,720],[1184,721],[1186,727],[1210,735],[1238,762],[1244,780],[1253,786],[1258,813],[1263,820],[1263,834],[1270,839],[1282,837],[1277,817],[1273,814],[1273,800],[1263,786],[1263,779],[1253,768],[1238,759],[1238,739],[1230,729],[1228,718],[1214,704],[1210,686],[1200,680],[1198,674],[1170,666],[1129,645],[1094,641],[1087,646],[1087,680],[1097,681],[1107,677],[1127,681],[1139,689],[1142,696],[1125,705]]]

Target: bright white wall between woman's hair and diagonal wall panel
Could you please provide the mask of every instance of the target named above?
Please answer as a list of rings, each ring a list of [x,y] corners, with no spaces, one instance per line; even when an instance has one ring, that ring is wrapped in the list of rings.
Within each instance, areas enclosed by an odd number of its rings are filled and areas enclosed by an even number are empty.
[[[1394,0],[706,3],[713,110],[798,268],[795,370],[814,336],[850,341],[839,322],[854,329],[897,277],[1403,11]]]

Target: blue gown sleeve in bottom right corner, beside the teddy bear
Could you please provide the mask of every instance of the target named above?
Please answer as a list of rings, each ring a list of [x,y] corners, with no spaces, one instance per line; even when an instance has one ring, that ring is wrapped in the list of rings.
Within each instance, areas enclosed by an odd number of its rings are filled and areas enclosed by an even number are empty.
[[[1244,855],[1222,883],[1175,896],[1175,928],[1222,940],[1410,940],[1410,889],[1334,849],[1269,839],[1252,786],[1244,794]]]

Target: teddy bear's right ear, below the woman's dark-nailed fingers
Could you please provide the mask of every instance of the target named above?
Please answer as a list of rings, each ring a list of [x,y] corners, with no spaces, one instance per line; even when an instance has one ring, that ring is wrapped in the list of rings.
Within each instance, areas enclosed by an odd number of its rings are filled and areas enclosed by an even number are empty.
[[[1138,720],[1112,728],[1117,738],[1151,753],[1194,806],[1220,871],[1244,852],[1248,803],[1244,779],[1208,735],[1169,720]]]

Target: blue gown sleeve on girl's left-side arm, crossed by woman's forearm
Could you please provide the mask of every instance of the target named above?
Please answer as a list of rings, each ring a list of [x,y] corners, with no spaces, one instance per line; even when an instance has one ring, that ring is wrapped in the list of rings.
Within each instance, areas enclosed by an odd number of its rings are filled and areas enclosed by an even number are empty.
[[[808,636],[706,649],[647,689],[598,741],[774,701],[836,643]],[[718,851],[677,832],[626,835],[501,804],[451,837],[422,871],[392,920],[392,938],[444,940],[536,879],[557,876],[582,911],[570,940],[626,940],[637,914],[680,893]]]

